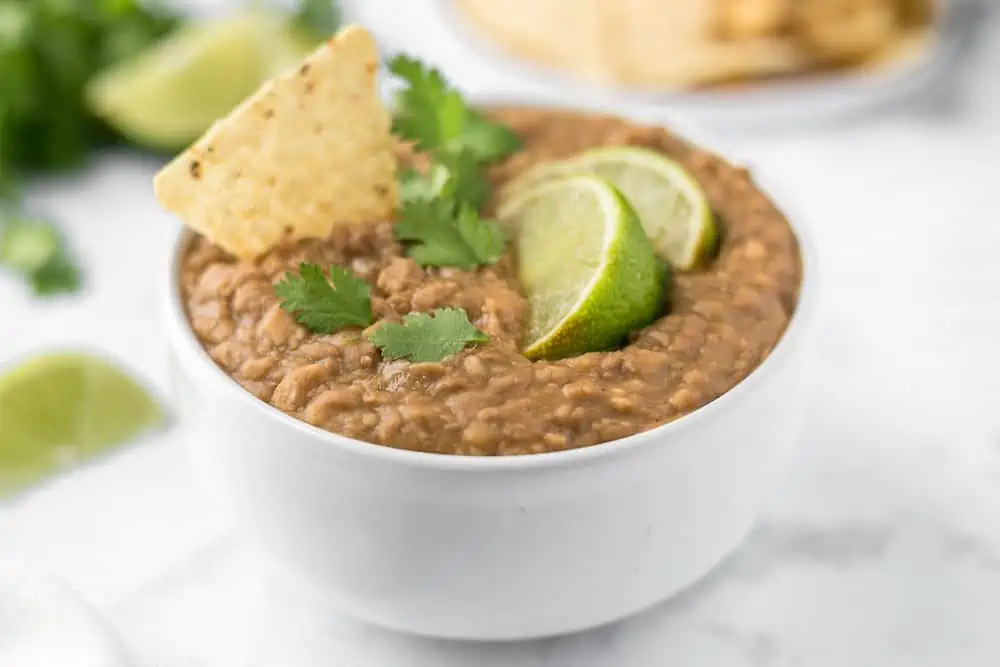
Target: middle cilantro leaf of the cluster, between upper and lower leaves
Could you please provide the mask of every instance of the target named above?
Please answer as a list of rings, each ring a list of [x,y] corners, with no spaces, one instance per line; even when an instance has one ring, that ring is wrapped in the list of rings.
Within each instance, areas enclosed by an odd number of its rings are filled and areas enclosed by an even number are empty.
[[[415,169],[402,172],[400,193],[403,201],[440,197],[479,208],[490,197],[490,184],[475,155],[462,150],[437,155],[426,175]]]

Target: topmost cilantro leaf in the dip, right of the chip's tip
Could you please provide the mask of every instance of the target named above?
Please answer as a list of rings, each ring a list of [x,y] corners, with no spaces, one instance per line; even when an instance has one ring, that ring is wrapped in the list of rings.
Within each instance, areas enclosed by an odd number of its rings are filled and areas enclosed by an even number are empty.
[[[406,82],[393,97],[393,132],[420,150],[468,151],[487,162],[515,151],[520,142],[509,128],[489,121],[448,85],[438,70],[397,55],[389,71]]]

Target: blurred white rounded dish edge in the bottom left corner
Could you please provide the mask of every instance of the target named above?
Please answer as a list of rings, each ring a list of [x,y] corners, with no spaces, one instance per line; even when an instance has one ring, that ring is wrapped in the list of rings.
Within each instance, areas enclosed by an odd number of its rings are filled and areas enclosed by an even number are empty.
[[[0,665],[127,667],[95,611],[52,578],[0,556]]]

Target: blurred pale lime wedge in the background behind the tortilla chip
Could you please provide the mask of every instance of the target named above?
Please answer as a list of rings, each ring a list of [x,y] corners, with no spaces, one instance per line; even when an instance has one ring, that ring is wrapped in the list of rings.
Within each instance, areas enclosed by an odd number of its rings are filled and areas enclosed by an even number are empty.
[[[182,148],[309,53],[316,39],[264,12],[190,23],[88,86],[95,114],[133,141]]]

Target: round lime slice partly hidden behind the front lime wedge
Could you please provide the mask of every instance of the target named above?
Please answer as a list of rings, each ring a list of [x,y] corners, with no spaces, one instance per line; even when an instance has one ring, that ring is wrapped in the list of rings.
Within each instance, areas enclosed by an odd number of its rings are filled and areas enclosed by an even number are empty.
[[[674,268],[688,271],[714,250],[718,230],[701,186],[677,162],[645,148],[598,148],[541,164],[508,192],[573,174],[593,174],[618,188],[639,214],[657,253]]]

